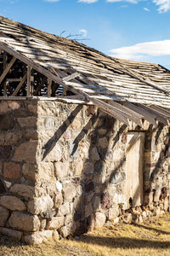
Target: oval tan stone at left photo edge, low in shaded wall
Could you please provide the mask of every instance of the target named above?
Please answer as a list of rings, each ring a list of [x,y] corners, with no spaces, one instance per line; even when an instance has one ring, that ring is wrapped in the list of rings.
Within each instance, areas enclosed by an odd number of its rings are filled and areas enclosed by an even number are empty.
[[[3,195],[0,197],[0,205],[11,211],[26,211],[26,205],[20,198],[12,195]]]

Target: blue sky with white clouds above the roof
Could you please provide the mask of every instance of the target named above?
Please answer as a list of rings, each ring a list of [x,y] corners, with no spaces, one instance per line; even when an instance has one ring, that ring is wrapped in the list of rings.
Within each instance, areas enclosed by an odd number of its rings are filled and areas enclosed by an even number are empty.
[[[0,15],[170,69],[170,0],[0,0]]]

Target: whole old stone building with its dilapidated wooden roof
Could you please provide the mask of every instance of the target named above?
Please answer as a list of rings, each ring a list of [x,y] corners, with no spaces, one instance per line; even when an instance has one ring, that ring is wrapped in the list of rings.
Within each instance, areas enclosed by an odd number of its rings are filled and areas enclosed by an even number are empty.
[[[0,232],[27,243],[170,204],[170,73],[0,17]]]

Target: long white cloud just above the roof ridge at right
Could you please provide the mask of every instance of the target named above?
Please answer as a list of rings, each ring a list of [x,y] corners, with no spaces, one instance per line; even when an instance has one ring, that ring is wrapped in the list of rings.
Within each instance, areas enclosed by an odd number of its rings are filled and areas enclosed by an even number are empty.
[[[170,40],[134,44],[110,50],[112,56],[127,60],[141,60],[144,56],[170,55]]]

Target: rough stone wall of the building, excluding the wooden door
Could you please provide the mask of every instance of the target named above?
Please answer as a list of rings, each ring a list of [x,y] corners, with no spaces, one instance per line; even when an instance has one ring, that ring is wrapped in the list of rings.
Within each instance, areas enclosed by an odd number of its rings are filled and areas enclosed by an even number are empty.
[[[127,131],[93,106],[0,102],[0,232],[42,242],[167,211],[168,128],[146,132],[144,207],[131,209]]]

